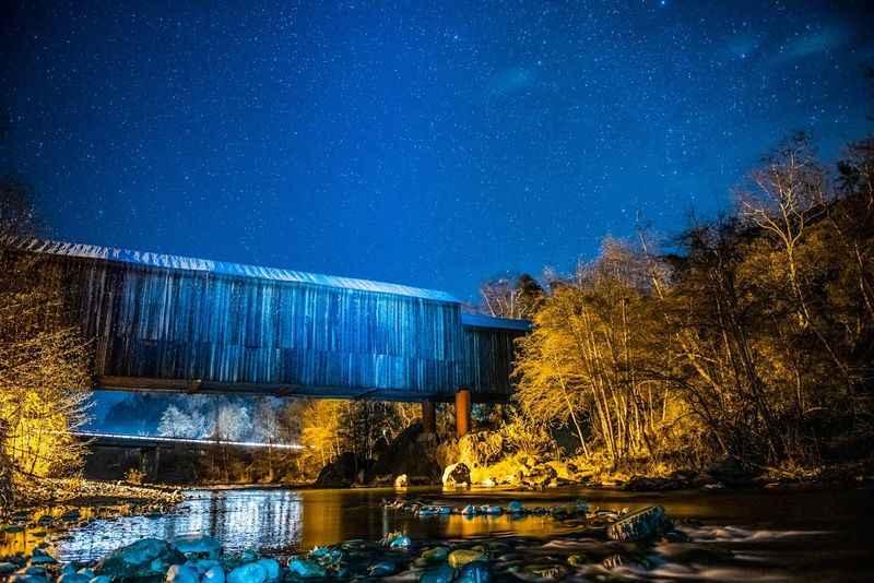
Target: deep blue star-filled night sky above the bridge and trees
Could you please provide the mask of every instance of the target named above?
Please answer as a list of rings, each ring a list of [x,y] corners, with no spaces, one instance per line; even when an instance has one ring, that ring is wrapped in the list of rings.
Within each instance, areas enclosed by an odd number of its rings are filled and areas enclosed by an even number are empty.
[[[55,238],[474,299],[870,133],[865,3],[7,2],[0,170]]]

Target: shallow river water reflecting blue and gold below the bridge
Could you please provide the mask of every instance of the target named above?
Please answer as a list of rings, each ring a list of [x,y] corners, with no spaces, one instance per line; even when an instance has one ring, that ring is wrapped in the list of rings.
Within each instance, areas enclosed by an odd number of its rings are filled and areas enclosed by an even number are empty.
[[[144,537],[169,539],[210,534],[226,550],[257,548],[285,556],[351,538],[378,539],[394,531],[415,539],[488,538],[531,557],[586,552],[599,557],[598,575],[657,581],[874,581],[874,496],[870,490],[681,491],[633,493],[569,489],[553,492],[465,492],[444,495],[412,489],[409,498],[452,505],[566,504],[584,498],[592,507],[619,510],[661,504],[690,544],[648,549],[660,560],[646,566],[600,557],[605,544],[575,536],[575,528],[547,515],[415,517],[382,508],[389,489],[362,490],[191,490],[177,513],[95,519],[55,540],[62,560],[87,561]],[[42,533],[36,533],[42,535]],[[33,532],[7,533],[0,550],[31,546]],[[613,548],[613,547],[611,547]],[[618,547],[617,547],[618,548]],[[606,550],[605,550],[606,549]],[[725,554],[723,551],[730,551]],[[713,561],[719,551],[721,560]],[[518,554],[518,552],[517,552]],[[728,557],[728,558],[725,558]],[[534,560],[534,559],[531,559]],[[605,564],[606,567],[603,567]]]

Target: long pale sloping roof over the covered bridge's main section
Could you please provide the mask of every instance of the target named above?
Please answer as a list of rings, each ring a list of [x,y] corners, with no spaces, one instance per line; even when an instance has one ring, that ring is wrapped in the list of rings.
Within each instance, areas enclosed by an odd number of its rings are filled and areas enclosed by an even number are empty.
[[[229,263],[226,261],[213,261],[210,259],[197,259],[190,257],[170,255],[166,253],[153,253],[149,251],[133,251],[118,247],[99,247],[96,245],[71,243],[36,238],[14,238],[9,242],[21,250],[35,253],[46,253],[51,255],[81,259],[97,259],[104,261],[132,263],[135,265],[144,265],[150,267],[205,272],[236,277],[272,279],[276,282],[295,282],[300,284],[358,289],[362,291],[393,294],[434,301],[459,304],[458,299],[446,291],[424,289],[421,287],[411,287],[385,282],[371,282],[369,279],[357,279],[354,277],[322,275],[318,273],[307,273],[303,271],[283,270],[277,267],[264,267],[260,265]]]

